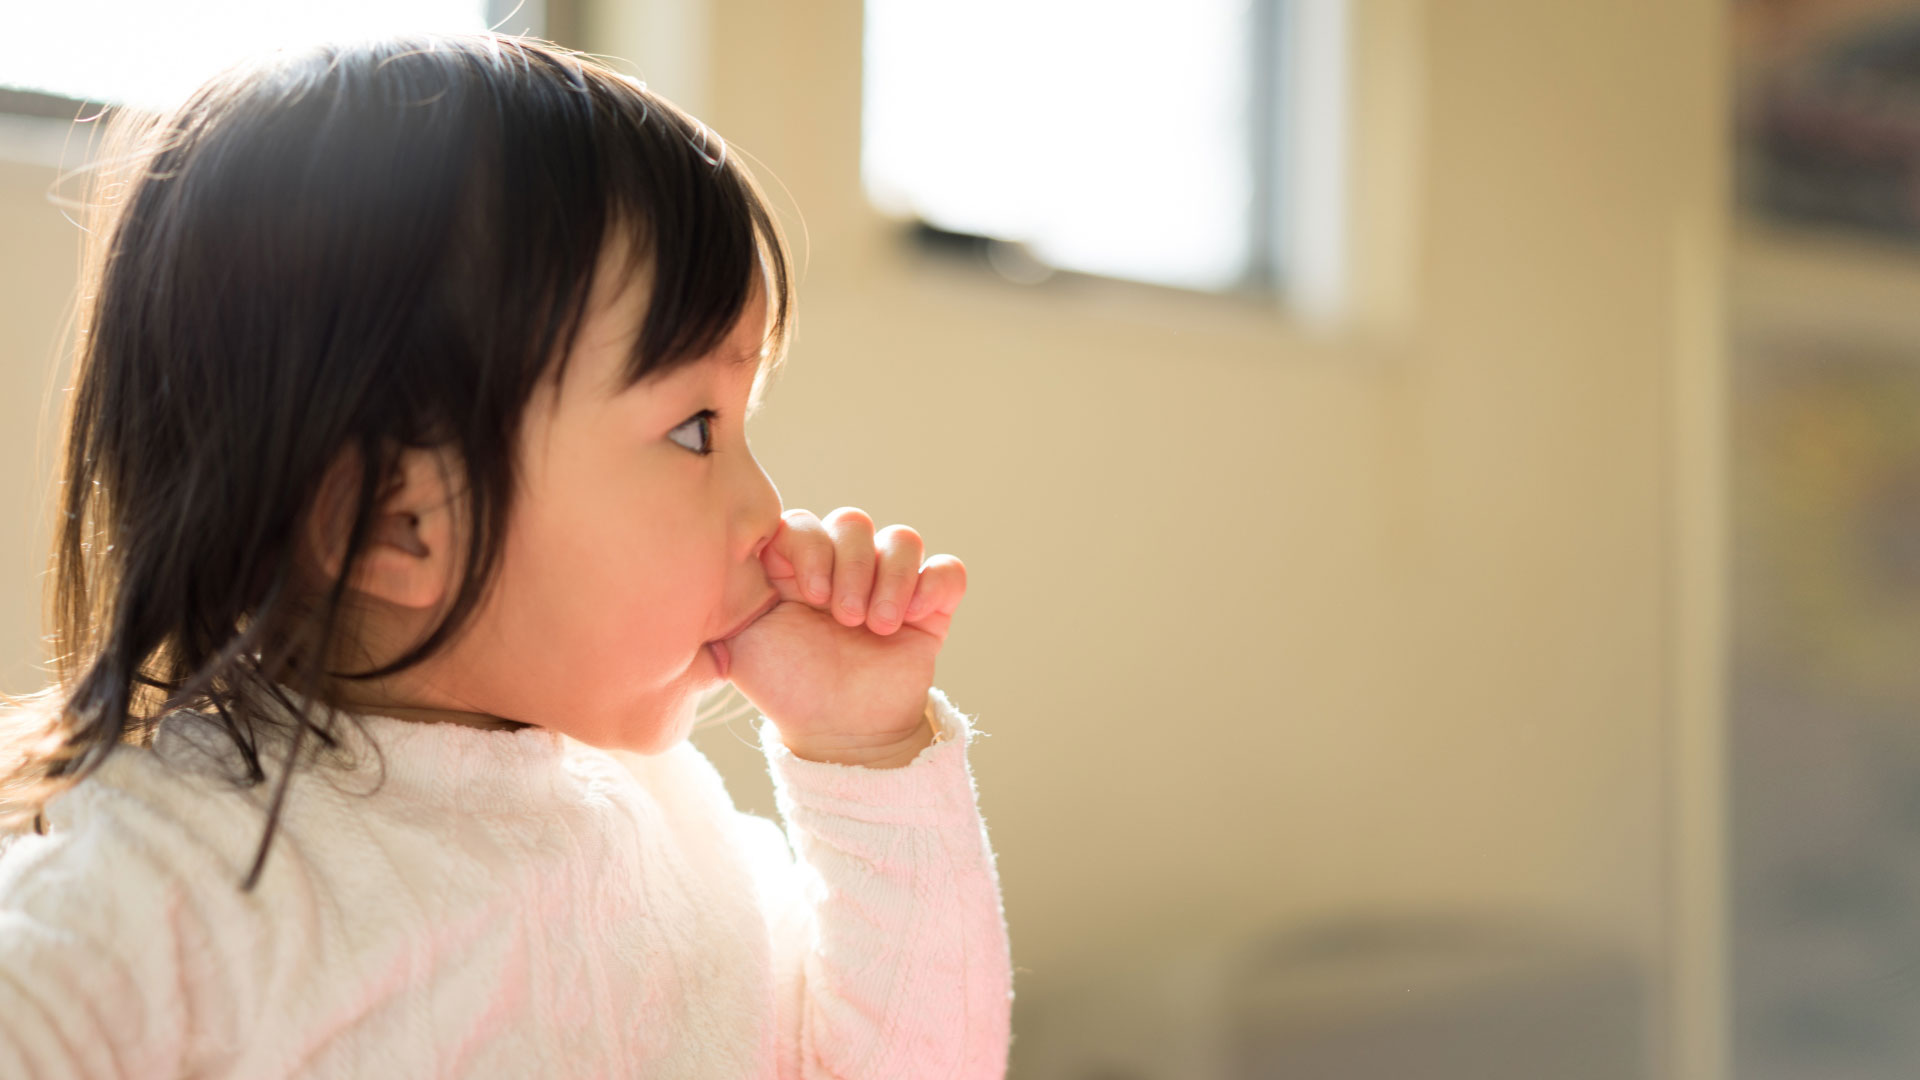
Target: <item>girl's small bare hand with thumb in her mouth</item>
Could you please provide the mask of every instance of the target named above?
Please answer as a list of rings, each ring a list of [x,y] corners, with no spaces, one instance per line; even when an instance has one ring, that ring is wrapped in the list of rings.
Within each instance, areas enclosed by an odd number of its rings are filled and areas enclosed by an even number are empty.
[[[789,509],[760,552],[780,603],[728,642],[730,678],[797,757],[906,765],[933,740],[933,657],[947,642],[966,565],[922,561],[904,525],[877,534],[856,507]]]

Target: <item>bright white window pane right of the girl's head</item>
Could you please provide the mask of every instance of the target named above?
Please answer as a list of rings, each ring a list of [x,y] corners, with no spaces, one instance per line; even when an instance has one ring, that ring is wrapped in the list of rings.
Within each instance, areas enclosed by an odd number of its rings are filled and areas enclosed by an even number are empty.
[[[874,200],[1048,263],[1190,288],[1250,258],[1246,0],[868,0]]]

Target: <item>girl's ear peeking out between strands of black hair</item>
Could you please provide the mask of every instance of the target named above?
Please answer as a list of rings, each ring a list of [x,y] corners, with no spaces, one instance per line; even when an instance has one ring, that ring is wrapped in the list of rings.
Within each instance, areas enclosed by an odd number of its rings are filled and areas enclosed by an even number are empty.
[[[405,448],[374,502],[348,588],[399,607],[434,607],[453,586],[459,552],[451,457],[440,450]],[[311,565],[330,586],[346,561],[353,505],[361,484],[359,450],[348,448],[328,467],[307,515]]]

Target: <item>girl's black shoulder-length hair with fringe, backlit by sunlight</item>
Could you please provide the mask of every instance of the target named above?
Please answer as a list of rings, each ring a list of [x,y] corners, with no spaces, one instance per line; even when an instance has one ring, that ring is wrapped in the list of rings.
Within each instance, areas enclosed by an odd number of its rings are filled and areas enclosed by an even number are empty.
[[[326,676],[407,669],[484,596],[515,490],[520,415],[559,379],[603,248],[651,271],[628,382],[716,348],[766,290],[791,325],[785,242],[703,123],[572,50],[413,35],[278,52],[165,115],[113,117],[94,177],[48,617],[58,686],[6,782],[8,822],[217,717],[259,784],[255,724],[294,709],[253,869],[301,740],[336,746]],[[445,448],[468,546],[436,630],[374,671],[326,671],[346,580],[405,448]],[[303,598],[298,538],[328,467],[359,463],[342,571]],[[324,676],[323,676],[324,673]],[[284,688],[282,688],[284,686]],[[278,715],[288,715],[280,711]]]

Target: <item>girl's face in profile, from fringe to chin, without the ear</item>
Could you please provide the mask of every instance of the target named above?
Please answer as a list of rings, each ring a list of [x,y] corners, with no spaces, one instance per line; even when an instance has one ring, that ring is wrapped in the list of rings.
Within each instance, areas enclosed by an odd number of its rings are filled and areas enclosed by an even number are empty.
[[[624,275],[624,240],[603,254],[564,380],[557,388],[549,373],[526,404],[486,600],[442,653],[386,684],[415,711],[660,751],[685,738],[699,696],[720,682],[707,642],[778,600],[760,548],[780,528],[780,490],[743,425],[756,404],[764,290],[710,354],[620,388],[651,284]]]

